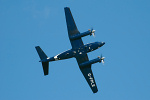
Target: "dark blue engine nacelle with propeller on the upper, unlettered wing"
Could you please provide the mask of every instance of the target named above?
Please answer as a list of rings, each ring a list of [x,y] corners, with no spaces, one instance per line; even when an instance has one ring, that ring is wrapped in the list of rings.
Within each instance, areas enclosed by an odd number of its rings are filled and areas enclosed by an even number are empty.
[[[87,35],[94,35],[94,32],[95,32],[95,30],[88,30],[88,31],[86,31],[86,32],[84,32],[84,33],[80,33],[80,34],[77,34],[77,35],[73,35],[73,36],[71,36],[70,37],[70,39],[71,40],[77,40],[77,39],[80,39],[81,37],[84,37],[84,36],[87,36]]]

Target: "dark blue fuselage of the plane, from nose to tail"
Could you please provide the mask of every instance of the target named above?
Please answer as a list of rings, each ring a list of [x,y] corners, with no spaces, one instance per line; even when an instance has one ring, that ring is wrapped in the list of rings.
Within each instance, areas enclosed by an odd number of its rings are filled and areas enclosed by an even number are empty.
[[[54,57],[47,58],[46,61],[63,60],[63,59],[68,59],[68,58],[76,57],[79,55],[87,54],[89,52],[92,52],[92,51],[100,48],[104,44],[105,44],[105,42],[88,43],[83,46],[80,46],[79,48],[70,49],[70,50],[64,51]]]

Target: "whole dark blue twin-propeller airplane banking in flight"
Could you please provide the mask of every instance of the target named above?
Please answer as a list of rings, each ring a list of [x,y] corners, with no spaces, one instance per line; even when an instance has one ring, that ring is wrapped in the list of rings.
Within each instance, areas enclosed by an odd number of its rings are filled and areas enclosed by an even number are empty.
[[[98,56],[98,58],[96,59],[89,60],[87,53],[102,47],[105,44],[105,42],[93,42],[93,43],[83,44],[81,38],[87,35],[94,35],[95,30],[89,29],[86,32],[80,33],[76,27],[70,8],[65,7],[64,11],[65,11],[66,24],[68,29],[68,36],[69,36],[72,49],[57,54],[56,56],[48,57],[44,53],[44,51],[40,48],[40,46],[36,46],[35,48],[41,59],[39,62],[42,63],[44,75],[48,75],[49,73],[49,62],[64,60],[69,58],[76,58],[78,66],[83,76],[85,77],[93,93],[96,93],[98,89],[91,70],[91,65],[97,62],[104,63],[105,57]]]

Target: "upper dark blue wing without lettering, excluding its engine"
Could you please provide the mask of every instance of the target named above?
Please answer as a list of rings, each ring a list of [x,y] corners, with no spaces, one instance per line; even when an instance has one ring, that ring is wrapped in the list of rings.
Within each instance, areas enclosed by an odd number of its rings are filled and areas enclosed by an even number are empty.
[[[65,7],[64,10],[65,10],[66,23],[67,23],[67,29],[68,29],[68,36],[70,39],[71,36],[80,34],[80,32],[77,29],[77,26],[71,14],[70,8]],[[81,38],[77,40],[70,40],[70,42],[71,42],[72,48],[78,48],[83,45]]]

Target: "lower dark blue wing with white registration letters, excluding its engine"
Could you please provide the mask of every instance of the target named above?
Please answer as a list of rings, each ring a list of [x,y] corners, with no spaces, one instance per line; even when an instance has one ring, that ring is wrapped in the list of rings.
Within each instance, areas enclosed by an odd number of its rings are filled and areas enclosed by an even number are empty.
[[[78,65],[85,61],[89,61],[87,54],[76,57],[76,60],[78,62]],[[93,93],[96,93],[98,89],[97,89],[96,82],[92,73],[91,65],[88,65],[84,68],[79,66],[79,68],[84,78],[88,82],[90,88],[92,89]]]

